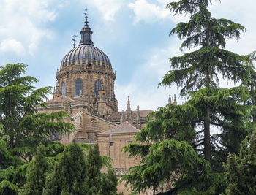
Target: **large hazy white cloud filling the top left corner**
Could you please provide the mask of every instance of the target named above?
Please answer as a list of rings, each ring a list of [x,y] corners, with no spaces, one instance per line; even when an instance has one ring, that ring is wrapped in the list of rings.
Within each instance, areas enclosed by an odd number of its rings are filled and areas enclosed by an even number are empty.
[[[56,11],[50,10],[53,1],[4,0],[0,2],[0,38],[15,39],[32,55],[42,38],[52,37],[52,32],[42,27],[53,22]]]

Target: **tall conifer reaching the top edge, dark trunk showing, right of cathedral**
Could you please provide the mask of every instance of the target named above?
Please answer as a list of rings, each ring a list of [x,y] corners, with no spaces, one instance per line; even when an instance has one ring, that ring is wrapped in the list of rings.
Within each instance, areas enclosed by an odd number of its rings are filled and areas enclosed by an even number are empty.
[[[182,0],[167,5],[175,14],[190,14],[190,20],[178,23],[170,35],[177,34],[179,39],[184,39],[181,51],[194,47],[196,50],[170,58],[171,70],[159,85],[176,84],[181,88],[181,96],[190,95],[189,104],[200,115],[197,129],[202,129],[202,155],[211,162],[215,153],[213,147],[220,145],[222,147],[218,150],[227,148],[238,152],[238,143],[252,131],[252,126],[244,123],[248,122],[248,110],[251,110],[251,107],[243,106],[251,99],[249,91],[244,86],[219,89],[219,75],[233,83],[249,81],[250,73],[254,71],[255,52],[243,56],[225,50],[225,39],[238,40],[246,29],[231,20],[212,17],[208,11],[209,2]],[[222,134],[211,137],[214,126]],[[238,134],[231,133],[231,126]],[[212,142],[218,144],[212,145]]]

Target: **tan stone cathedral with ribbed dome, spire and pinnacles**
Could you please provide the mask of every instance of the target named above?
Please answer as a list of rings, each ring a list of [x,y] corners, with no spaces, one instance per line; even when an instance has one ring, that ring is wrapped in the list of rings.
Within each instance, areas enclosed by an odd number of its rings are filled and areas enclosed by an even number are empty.
[[[56,72],[53,99],[47,102],[47,110],[39,112],[66,111],[72,116],[68,122],[75,124],[71,134],[54,134],[50,139],[68,145],[77,142],[99,143],[102,155],[113,158],[118,175],[138,164],[138,159],[121,153],[121,148],[133,141],[133,137],[146,125],[146,115],[152,110],[132,111],[128,96],[127,110],[118,111],[115,98],[116,72],[113,72],[108,56],[91,39],[92,31],[87,20],[80,31],[80,42],[62,59]],[[175,100],[169,103],[174,103]],[[118,186],[124,191],[124,186]]]

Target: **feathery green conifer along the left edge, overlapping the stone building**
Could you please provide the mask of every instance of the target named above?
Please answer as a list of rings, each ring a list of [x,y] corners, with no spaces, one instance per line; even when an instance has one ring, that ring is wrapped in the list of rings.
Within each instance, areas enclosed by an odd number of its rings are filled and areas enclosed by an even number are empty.
[[[36,89],[32,85],[36,78],[22,77],[26,67],[21,63],[0,66],[0,194],[17,194],[23,188],[37,145],[52,145],[47,139],[50,134],[74,128],[64,122],[70,118],[66,112],[37,112],[38,107],[46,108],[50,87]]]

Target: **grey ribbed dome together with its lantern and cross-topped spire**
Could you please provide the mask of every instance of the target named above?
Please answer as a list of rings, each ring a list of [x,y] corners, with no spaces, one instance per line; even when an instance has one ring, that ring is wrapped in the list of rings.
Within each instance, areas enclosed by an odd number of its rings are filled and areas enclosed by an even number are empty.
[[[70,50],[62,59],[61,69],[64,69],[67,66],[94,65],[112,70],[112,66],[108,56],[102,50],[94,47],[94,42],[92,42],[91,40],[92,31],[88,25],[87,15],[85,26],[83,26],[80,34],[81,39],[79,42],[79,46],[75,47],[76,35],[74,35],[74,48]]]

